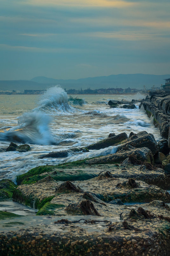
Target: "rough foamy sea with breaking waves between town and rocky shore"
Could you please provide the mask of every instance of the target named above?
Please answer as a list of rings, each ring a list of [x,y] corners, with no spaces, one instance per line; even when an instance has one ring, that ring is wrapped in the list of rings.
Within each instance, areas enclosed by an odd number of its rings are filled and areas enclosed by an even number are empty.
[[[77,97],[77,99],[75,99]],[[160,132],[144,109],[110,108],[108,101],[139,100],[146,95],[67,95],[54,86],[43,95],[0,95],[0,179],[16,183],[18,175],[42,165],[57,165],[116,152],[108,147],[90,152],[72,152],[66,158],[39,156],[51,151],[85,147],[108,137],[110,133],[147,131],[159,141]],[[121,105],[120,105],[121,106]],[[6,152],[10,142],[29,144],[31,151]]]

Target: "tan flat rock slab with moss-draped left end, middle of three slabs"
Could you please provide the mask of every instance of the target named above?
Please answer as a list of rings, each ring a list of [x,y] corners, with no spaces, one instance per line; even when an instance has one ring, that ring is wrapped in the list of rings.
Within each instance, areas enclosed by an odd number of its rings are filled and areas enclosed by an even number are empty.
[[[109,202],[114,199],[121,199],[123,203],[150,202],[154,199],[162,200],[166,203],[170,202],[170,194],[157,186],[148,185],[142,181],[136,181],[137,187],[134,188],[132,185],[129,185],[127,179],[108,178],[105,177],[105,174],[100,174],[98,177],[86,181],[75,181],[74,185],[80,189],[79,193],[74,193],[75,196],[70,195],[67,189],[63,191],[58,190],[61,183],[62,182],[54,181],[49,176],[30,185],[20,185],[14,190],[13,199],[36,209],[42,208],[51,200],[51,203],[55,204],[54,208],[61,208],[61,205],[68,206],[69,197],[72,198],[70,199],[72,200],[71,203],[77,204],[79,200],[88,199],[84,196],[84,192],[89,192],[92,196],[94,194],[94,198],[96,199],[92,200],[92,202],[94,201],[100,206],[104,206],[101,204],[101,200]],[[70,191],[71,194],[73,192],[72,190]],[[75,197],[77,199],[75,199]],[[104,214],[105,211],[107,213],[107,209],[104,209],[102,214]]]

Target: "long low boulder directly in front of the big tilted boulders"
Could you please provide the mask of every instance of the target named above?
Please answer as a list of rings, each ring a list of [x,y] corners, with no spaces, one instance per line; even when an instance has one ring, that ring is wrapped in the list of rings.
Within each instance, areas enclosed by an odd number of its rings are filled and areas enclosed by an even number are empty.
[[[153,163],[153,155],[150,149],[143,147],[131,150],[121,150],[115,154],[109,154],[107,156],[101,156],[93,159],[86,159],[86,164],[96,165],[96,164],[114,164],[124,161],[129,155],[134,155],[136,158],[142,162]]]

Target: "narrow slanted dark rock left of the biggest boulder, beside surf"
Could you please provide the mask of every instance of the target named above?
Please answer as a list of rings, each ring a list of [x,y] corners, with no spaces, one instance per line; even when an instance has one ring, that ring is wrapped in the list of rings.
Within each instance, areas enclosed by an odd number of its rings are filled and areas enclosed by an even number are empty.
[[[127,134],[124,132],[124,133],[120,133],[119,135],[116,135],[114,137],[110,137],[110,138],[107,138],[105,140],[101,140],[97,143],[94,143],[94,144],[91,144],[89,146],[87,146],[86,148],[87,149],[102,149],[102,148],[107,148],[109,146],[113,146],[114,144],[117,144],[117,143],[120,143],[122,142],[123,140],[126,140],[127,139]]]

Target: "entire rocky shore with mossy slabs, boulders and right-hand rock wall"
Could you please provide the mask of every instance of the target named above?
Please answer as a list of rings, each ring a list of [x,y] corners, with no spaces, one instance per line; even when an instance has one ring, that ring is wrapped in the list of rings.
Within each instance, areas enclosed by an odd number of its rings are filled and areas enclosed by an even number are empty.
[[[36,167],[18,176],[17,185],[2,180],[0,200],[13,198],[38,212],[34,221],[29,221],[0,211],[1,255],[169,256],[167,102],[168,96],[152,96],[140,105],[160,127],[163,140],[158,143],[146,131],[132,131],[129,136],[110,133],[85,148],[51,152],[40,158],[67,157],[71,151],[84,154],[109,146],[116,147],[114,154]]]

